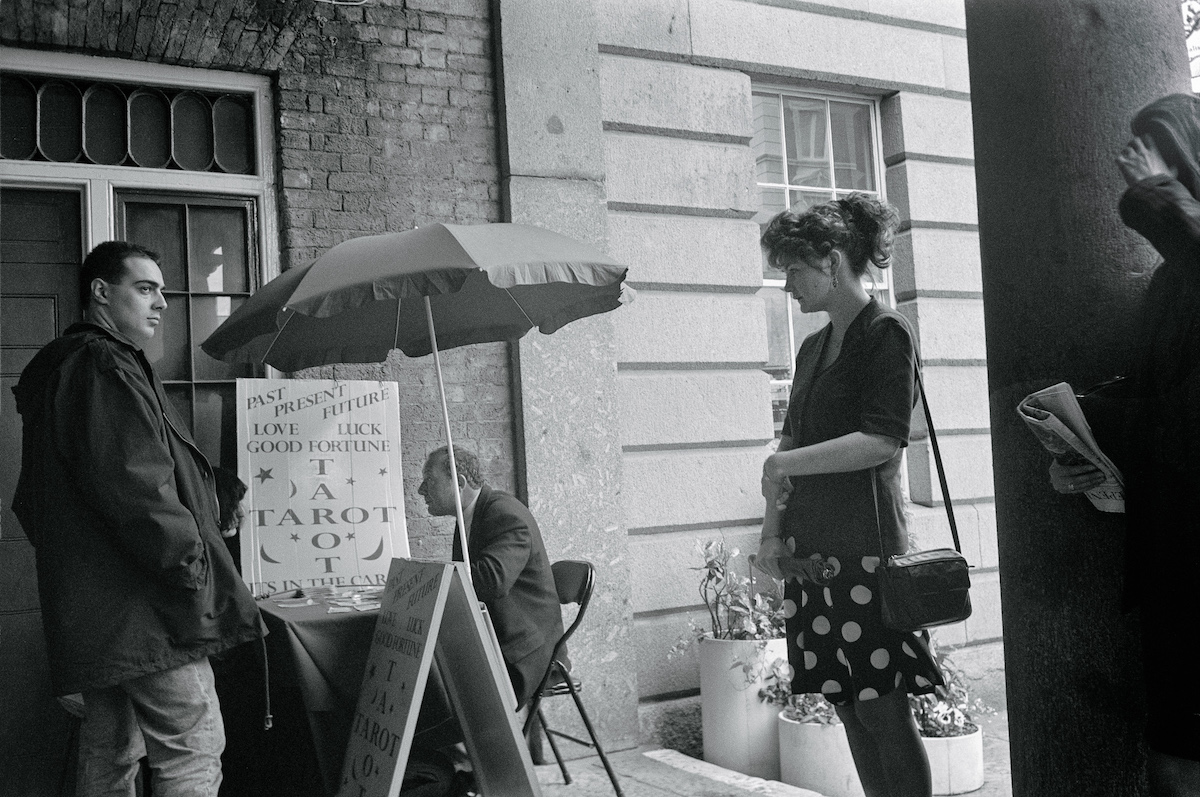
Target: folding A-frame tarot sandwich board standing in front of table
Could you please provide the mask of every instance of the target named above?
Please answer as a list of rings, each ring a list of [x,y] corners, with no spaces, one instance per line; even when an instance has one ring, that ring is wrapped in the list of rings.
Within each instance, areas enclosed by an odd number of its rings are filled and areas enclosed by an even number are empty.
[[[396,797],[437,666],[485,797],[541,797],[516,700],[467,565],[392,559],[337,797]]]

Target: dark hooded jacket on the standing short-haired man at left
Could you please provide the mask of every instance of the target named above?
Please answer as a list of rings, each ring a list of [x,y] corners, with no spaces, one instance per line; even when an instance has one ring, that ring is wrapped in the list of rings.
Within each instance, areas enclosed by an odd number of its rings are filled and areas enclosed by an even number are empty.
[[[212,472],[127,338],[74,324],[22,373],[13,511],[34,544],[55,694],[263,635],[217,531]]]

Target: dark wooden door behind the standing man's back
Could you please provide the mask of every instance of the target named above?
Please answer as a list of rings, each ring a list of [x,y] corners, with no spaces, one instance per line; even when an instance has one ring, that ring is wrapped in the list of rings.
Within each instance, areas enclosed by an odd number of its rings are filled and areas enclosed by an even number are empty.
[[[79,319],[80,194],[0,190],[0,792],[74,793],[68,714],[50,694],[34,549],[12,514],[20,417],[12,395],[37,350]]]

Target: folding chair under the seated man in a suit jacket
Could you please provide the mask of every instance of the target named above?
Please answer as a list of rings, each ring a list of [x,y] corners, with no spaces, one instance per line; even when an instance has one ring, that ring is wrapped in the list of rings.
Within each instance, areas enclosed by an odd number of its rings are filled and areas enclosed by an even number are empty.
[[[533,725],[534,717],[541,720],[541,727],[546,732],[546,741],[550,742],[550,749],[554,753],[558,768],[563,771],[563,781],[568,784],[571,783],[571,774],[566,771],[566,765],[558,751],[554,737],[570,739],[576,744],[594,749],[600,755],[600,762],[604,765],[605,772],[608,773],[608,780],[612,781],[612,787],[616,790],[617,797],[625,797],[625,793],[620,790],[620,784],[617,783],[617,773],[612,771],[608,756],[605,755],[604,748],[600,747],[600,739],[596,738],[595,729],[592,727],[592,719],[588,718],[588,713],[583,708],[583,702],[580,700],[580,689],[582,689],[583,684],[563,664],[563,652],[566,649],[566,640],[580,627],[580,623],[583,622],[583,615],[588,611],[588,601],[592,600],[592,589],[595,586],[595,569],[590,562],[565,559],[553,563],[551,570],[554,574],[554,588],[558,591],[558,603],[564,606],[566,604],[578,604],[580,609],[575,613],[575,621],[571,622],[570,628],[566,629],[554,646],[554,653],[551,657],[550,666],[546,667],[546,675],[542,676],[541,683],[538,685],[538,691],[534,693],[533,700],[529,701],[529,715],[526,718],[524,735],[526,738],[529,737],[529,729]],[[575,707],[580,712],[580,719],[583,720],[583,726],[588,730],[588,736],[592,737],[590,742],[563,733],[562,731],[556,731],[546,724],[546,715],[541,711],[541,701],[546,697],[560,695],[570,695],[571,700],[575,701]]]

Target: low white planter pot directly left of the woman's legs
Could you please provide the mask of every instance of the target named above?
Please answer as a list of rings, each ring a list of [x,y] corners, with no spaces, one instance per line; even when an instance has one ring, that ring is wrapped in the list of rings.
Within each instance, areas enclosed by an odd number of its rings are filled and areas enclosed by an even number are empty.
[[[845,725],[797,723],[782,712],[778,723],[780,780],[826,797],[863,797]]]

